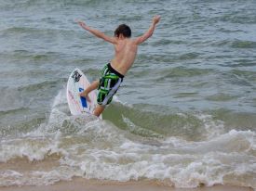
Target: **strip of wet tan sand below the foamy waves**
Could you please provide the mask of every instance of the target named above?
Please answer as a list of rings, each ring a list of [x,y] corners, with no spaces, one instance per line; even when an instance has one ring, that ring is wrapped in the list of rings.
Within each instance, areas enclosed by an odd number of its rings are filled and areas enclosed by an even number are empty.
[[[250,187],[234,185],[213,185],[197,188],[176,188],[154,181],[112,182],[74,178],[54,185],[11,185],[0,186],[0,191],[253,191]]]

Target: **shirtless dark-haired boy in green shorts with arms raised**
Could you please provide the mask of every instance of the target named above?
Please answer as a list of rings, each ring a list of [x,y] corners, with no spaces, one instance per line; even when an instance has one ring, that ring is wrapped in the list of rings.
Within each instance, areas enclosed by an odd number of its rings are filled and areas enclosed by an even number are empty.
[[[115,46],[115,57],[101,70],[101,79],[91,83],[91,85],[80,94],[80,96],[84,96],[88,99],[88,94],[92,90],[99,89],[97,97],[98,106],[94,109],[94,115],[99,117],[105,106],[110,104],[117,89],[123,82],[124,76],[135,60],[138,45],[152,36],[159,20],[160,16],[155,16],[148,31],[136,38],[130,38],[131,31],[126,24],[119,25],[115,30],[115,36],[112,37],[88,27],[83,21],[78,21],[78,24],[83,29]]]

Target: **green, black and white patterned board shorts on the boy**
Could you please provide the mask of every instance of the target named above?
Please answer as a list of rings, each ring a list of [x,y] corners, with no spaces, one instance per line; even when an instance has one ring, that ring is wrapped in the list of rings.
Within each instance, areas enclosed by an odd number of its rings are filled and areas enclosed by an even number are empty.
[[[108,63],[101,70],[101,79],[98,86],[97,102],[101,106],[109,105],[116,91],[123,82],[124,75],[112,68]]]

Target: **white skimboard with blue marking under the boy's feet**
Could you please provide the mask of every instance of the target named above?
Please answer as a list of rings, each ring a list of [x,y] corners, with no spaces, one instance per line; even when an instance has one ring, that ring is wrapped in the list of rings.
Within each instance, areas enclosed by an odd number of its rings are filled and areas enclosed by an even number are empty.
[[[97,106],[96,92],[91,91],[88,94],[90,101],[79,96],[89,85],[88,78],[81,70],[74,69],[72,71],[67,83],[67,100],[72,115],[93,114],[93,110]]]

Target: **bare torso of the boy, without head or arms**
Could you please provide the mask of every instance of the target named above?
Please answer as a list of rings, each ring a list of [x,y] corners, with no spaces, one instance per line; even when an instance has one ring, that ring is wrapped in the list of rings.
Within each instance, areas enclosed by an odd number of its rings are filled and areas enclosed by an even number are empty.
[[[138,45],[132,39],[118,40],[115,45],[115,57],[111,61],[112,67],[125,75],[132,66],[137,55]]]

